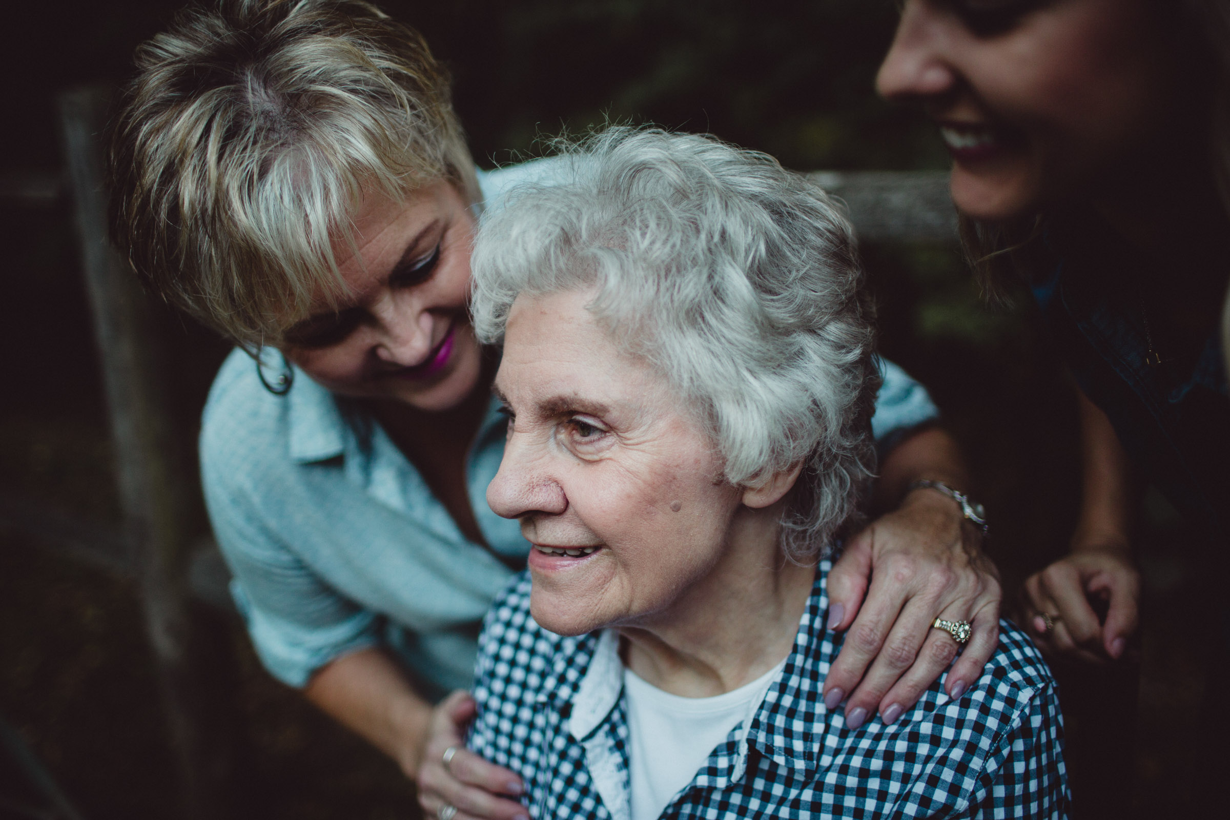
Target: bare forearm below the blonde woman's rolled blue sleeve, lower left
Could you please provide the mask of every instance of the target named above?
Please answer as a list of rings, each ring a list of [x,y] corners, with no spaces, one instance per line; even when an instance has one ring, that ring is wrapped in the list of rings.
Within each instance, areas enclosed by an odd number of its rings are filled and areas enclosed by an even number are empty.
[[[312,676],[304,695],[397,761],[406,775],[418,771],[432,706],[381,650],[360,649],[333,660]]]

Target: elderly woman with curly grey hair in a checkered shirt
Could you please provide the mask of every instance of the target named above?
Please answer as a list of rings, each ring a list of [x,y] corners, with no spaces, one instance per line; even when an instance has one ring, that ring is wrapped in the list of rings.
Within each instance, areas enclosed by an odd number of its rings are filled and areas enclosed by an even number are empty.
[[[569,171],[474,256],[510,417],[487,500],[534,548],[480,638],[470,747],[535,818],[1065,816],[1054,684],[1011,625],[895,723],[822,698],[823,559],[872,477],[878,384],[830,200],[661,132],[592,138]],[[948,659],[959,618],[936,621]]]

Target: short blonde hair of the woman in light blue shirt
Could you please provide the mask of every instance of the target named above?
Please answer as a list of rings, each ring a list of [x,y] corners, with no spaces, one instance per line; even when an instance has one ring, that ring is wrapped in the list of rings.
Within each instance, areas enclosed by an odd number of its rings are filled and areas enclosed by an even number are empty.
[[[155,293],[247,347],[336,298],[369,192],[478,200],[449,79],[358,0],[220,0],[137,50],[111,138],[113,241]]]

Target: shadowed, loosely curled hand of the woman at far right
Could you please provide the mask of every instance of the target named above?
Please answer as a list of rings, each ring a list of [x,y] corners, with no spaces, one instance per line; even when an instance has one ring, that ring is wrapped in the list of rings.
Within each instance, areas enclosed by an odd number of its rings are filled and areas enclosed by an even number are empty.
[[[1105,622],[1091,599],[1107,604]],[[1124,545],[1082,547],[1025,581],[1022,626],[1048,654],[1103,664],[1137,631],[1140,573]]]

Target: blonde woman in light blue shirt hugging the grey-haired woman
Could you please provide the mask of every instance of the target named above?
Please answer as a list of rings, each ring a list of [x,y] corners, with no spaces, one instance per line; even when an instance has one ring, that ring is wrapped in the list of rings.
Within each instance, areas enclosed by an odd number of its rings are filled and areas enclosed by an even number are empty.
[[[475,215],[550,165],[476,173],[444,71],[365,2],[225,0],[137,63],[114,127],[114,239],[150,290],[240,348],[200,459],[257,652],[392,756],[424,805],[519,816],[519,779],[456,749],[472,701],[433,702],[469,686],[478,623],[529,551],[483,502],[504,419],[498,350],[466,310]],[[966,478],[934,418],[886,366],[884,514],[829,580],[830,626],[855,625],[829,692],[851,723],[895,718],[947,669],[941,611],[973,623],[950,688],[994,652],[999,585],[946,494]],[[946,487],[908,489],[918,479]]]

